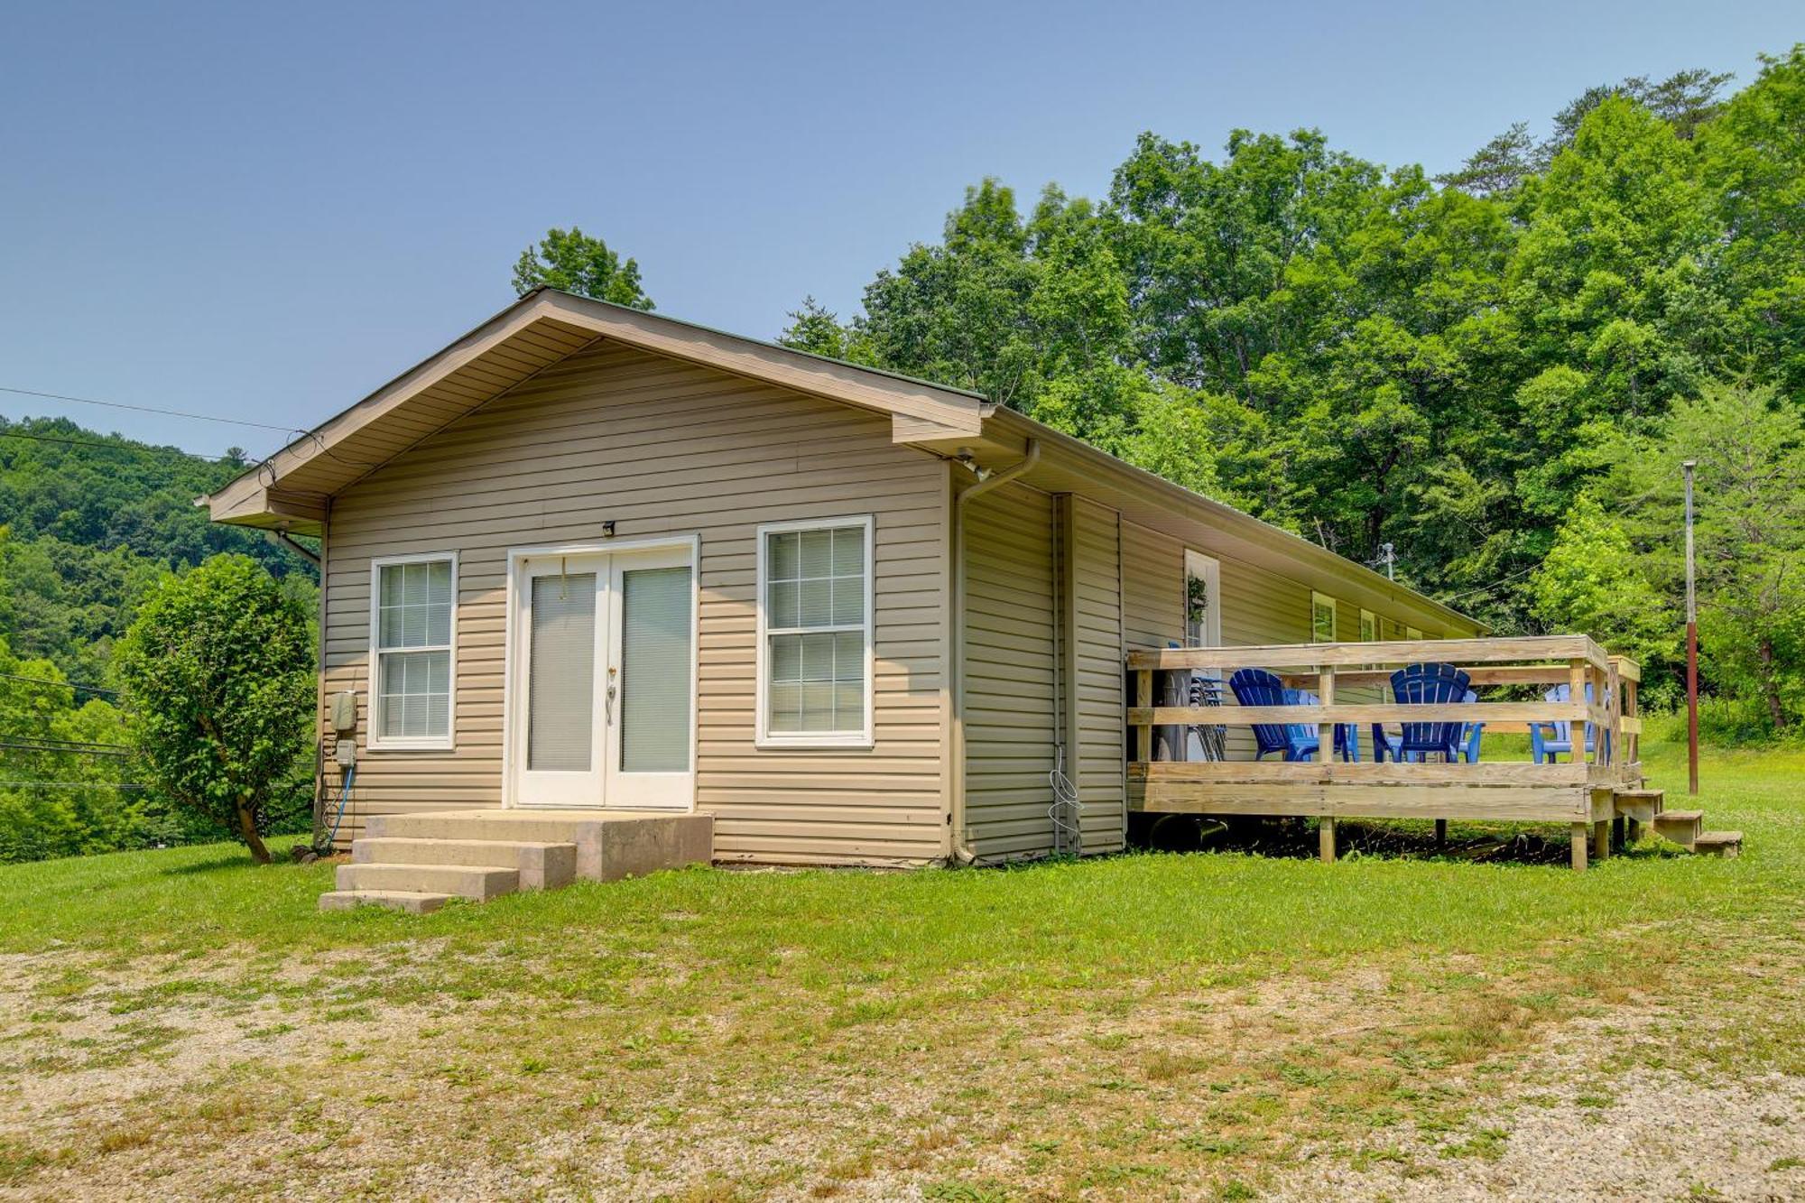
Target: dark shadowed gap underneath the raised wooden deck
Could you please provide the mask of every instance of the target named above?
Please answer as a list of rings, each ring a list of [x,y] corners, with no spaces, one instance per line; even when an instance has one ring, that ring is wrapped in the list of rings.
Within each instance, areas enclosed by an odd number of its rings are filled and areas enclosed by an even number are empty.
[[[1247,853],[1280,860],[1318,856],[1312,818],[1202,818],[1197,815],[1141,815],[1130,844],[1161,853]],[[1435,840],[1433,822],[1359,820],[1336,822],[1336,856],[1383,860],[1446,860],[1511,865],[1567,865],[1570,836],[1554,824],[1448,824],[1448,842]],[[1653,849],[1630,847],[1614,856],[1659,856]]]

